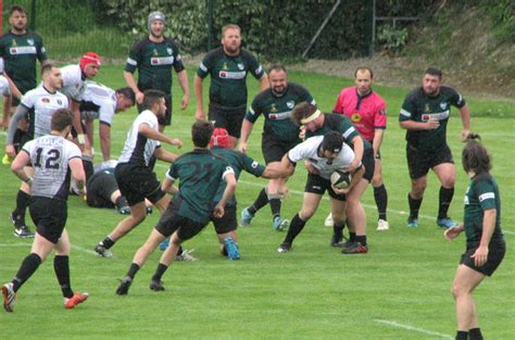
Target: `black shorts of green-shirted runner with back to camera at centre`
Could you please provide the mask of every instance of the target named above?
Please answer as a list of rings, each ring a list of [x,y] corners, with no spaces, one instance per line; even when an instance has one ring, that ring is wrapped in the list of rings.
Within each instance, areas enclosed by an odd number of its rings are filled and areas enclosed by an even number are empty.
[[[169,237],[172,234],[177,231],[178,238],[186,241],[202,231],[206,224],[180,216],[180,199],[174,199],[169,202],[163,215],[161,215],[161,218],[155,226],[155,230],[165,237]]]

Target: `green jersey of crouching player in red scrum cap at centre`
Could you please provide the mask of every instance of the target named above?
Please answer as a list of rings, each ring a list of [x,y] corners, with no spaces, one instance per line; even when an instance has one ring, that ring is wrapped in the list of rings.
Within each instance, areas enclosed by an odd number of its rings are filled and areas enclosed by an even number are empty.
[[[236,179],[240,177],[241,171],[246,171],[247,173],[252,174],[255,177],[261,177],[261,175],[263,175],[263,173],[265,172],[265,167],[263,165],[239,151],[214,147],[213,149],[211,149],[211,152],[223,158],[229,163],[229,166],[233,167],[233,169],[235,171]],[[221,182],[216,196],[214,198],[214,202],[219,202],[219,200],[222,200],[226,187],[227,185],[225,184],[225,181]],[[236,205],[236,198],[233,197],[227,202],[227,205]]]

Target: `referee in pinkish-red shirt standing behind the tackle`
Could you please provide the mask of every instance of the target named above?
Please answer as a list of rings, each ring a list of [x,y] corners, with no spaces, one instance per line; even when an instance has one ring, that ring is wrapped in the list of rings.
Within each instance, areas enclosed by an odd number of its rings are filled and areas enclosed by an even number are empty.
[[[360,135],[374,149],[375,167],[372,187],[374,188],[374,199],[379,213],[377,230],[388,230],[390,228],[387,219],[388,193],[382,182],[380,153],[387,126],[386,102],[372,90],[373,79],[374,73],[370,68],[359,67],[354,73],[355,86],[341,90],[332,112],[348,116]]]

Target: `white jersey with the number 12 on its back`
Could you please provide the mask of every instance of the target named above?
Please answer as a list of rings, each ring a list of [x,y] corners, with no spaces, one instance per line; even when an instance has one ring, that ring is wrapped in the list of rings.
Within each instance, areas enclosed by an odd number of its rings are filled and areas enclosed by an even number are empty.
[[[66,200],[70,191],[72,159],[80,160],[76,144],[61,136],[47,135],[26,142],[23,151],[30,156],[35,176],[32,194]]]

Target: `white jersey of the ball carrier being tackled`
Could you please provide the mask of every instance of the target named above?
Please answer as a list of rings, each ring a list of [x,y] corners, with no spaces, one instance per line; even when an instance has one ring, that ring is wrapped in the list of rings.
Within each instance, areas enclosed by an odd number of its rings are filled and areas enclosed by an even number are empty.
[[[315,136],[307,138],[290,151],[288,151],[288,159],[292,163],[297,163],[301,160],[306,160],[318,171],[318,175],[322,178],[330,179],[330,174],[336,169],[347,169],[349,165],[354,161],[354,151],[347,144],[342,143],[341,151],[338,153],[336,159],[328,160],[318,155],[318,150],[322,146],[324,136]],[[360,163],[361,166],[361,163]]]

